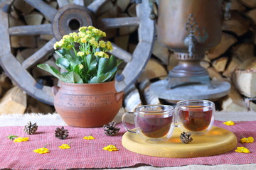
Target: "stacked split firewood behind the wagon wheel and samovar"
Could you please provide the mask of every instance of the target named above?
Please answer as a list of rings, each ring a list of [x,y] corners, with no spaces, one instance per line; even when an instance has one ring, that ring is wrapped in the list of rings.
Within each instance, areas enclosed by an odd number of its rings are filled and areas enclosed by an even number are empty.
[[[73,1],[73,0],[70,0]],[[223,111],[256,111],[256,1],[230,0],[231,18],[223,21],[221,42],[213,47],[201,62],[211,79],[228,81],[232,84],[230,94],[217,102],[219,110]],[[85,6],[92,0],[86,0]],[[46,0],[50,6],[58,9],[57,1]],[[130,0],[108,1],[97,13],[97,17],[115,18],[136,16],[135,4]],[[9,14],[9,27],[41,25],[49,23],[42,13],[23,0],[15,0]],[[137,46],[137,27],[114,28],[107,30],[108,38],[128,52],[133,52]],[[11,52],[16,59],[23,62],[38,49],[46,45],[53,35],[11,36]],[[142,54],[143,55],[143,54]],[[54,65],[55,55],[48,54],[40,63]],[[161,99],[149,91],[151,82],[164,79],[169,70],[173,69],[178,60],[168,48],[162,46],[156,39],[152,56],[146,68],[129,87],[124,98],[124,108],[132,111],[142,104],[163,103]],[[53,106],[28,96],[18,88],[0,69],[0,114],[1,113],[53,113]],[[28,72],[43,85],[53,86],[58,80],[51,77],[38,67],[28,69]]]

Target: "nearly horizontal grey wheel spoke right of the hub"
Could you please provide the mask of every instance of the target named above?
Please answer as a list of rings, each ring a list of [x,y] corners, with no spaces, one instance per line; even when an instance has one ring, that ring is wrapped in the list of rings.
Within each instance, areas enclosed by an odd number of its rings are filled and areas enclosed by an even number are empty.
[[[100,18],[97,21],[97,26],[101,26],[104,29],[119,28],[124,26],[139,26],[139,22],[138,17]]]

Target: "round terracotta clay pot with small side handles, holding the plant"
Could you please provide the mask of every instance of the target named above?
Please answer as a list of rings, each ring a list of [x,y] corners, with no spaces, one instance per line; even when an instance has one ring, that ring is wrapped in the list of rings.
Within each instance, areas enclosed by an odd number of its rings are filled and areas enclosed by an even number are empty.
[[[65,123],[80,128],[100,127],[111,122],[122,106],[124,92],[114,81],[100,84],[60,83],[52,88],[54,107]]]

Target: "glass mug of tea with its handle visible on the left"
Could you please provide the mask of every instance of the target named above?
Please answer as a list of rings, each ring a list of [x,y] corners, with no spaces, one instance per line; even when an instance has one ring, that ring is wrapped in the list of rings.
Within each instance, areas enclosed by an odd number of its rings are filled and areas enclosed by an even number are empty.
[[[131,114],[132,113],[132,114]],[[126,118],[134,116],[134,129],[127,127]],[[134,112],[122,115],[122,124],[128,132],[139,134],[146,142],[169,140],[174,132],[174,107],[167,105],[144,105],[135,108]]]

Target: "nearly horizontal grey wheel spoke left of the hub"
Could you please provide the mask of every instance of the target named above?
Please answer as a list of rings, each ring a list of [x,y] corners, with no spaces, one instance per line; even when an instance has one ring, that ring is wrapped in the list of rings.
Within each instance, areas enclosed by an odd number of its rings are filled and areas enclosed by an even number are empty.
[[[37,26],[15,26],[9,28],[10,35],[41,35],[53,34],[51,24],[43,24]]]

